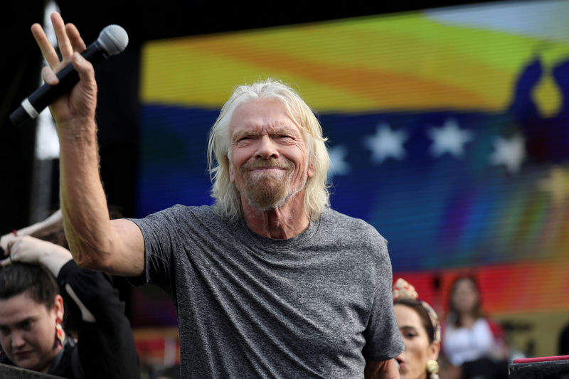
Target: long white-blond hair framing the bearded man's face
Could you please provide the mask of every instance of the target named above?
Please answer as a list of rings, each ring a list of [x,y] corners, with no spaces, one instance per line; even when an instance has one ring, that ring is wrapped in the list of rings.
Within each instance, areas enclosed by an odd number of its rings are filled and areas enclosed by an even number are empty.
[[[242,214],[240,193],[229,178],[229,124],[235,109],[245,102],[256,99],[278,100],[285,106],[288,116],[304,132],[307,139],[309,164],[314,167],[314,176],[308,178],[304,191],[304,212],[314,220],[330,206],[328,169],[330,157],[326,138],[314,112],[288,85],[277,80],[263,80],[252,85],[235,87],[229,100],[221,108],[218,119],[209,133],[208,169],[212,182],[211,196],[216,213],[223,218],[236,220]]]

